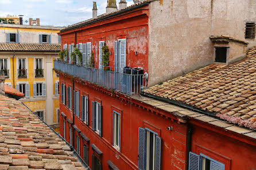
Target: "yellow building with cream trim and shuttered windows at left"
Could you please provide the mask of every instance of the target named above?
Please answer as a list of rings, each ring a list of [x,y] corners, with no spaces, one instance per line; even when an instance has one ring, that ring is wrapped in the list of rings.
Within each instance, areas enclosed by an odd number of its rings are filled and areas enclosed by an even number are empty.
[[[20,99],[47,124],[59,128],[59,78],[53,60],[63,27],[0,24],[0,73],[25,94]]]

